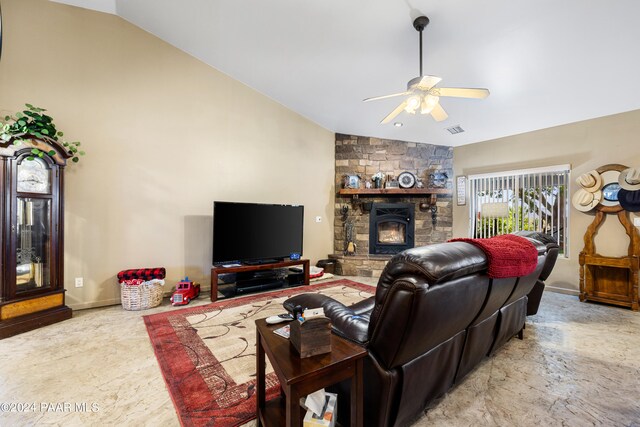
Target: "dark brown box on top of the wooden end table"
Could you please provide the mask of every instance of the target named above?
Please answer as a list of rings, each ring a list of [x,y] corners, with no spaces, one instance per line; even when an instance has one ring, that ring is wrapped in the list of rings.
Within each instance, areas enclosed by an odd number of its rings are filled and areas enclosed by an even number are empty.
[[[289,341],[300,357],[311,357],[331,351],[331,322],[328,318],[314,317],[304,322],[290,323]]]

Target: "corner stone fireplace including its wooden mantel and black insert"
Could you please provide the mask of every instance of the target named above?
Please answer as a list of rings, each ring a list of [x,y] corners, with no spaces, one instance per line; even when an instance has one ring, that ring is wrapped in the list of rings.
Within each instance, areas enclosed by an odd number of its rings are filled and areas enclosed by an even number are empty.
[[[445,242],[451,236],[453,188],[453,148],[414,142],[336,134],[334,253],[336,272],[342,275],[377,277],[394,253],[409,247]],[[425,186],[435,172],[446,172],[448,194],[430,197],[424,194],[341,195],[345,175],[359,175],[361,188],[372,175],[398,175],[404,171],[420,178]],[[375,205],[409,205],[410,221],[384,221],[372,238],[371,215]],[[432,208],[437,221],[432,221]],[[389,211],[388,211],[389,212]],[[411,214],[413,216],[411,216]],[[393,222],[393,221],[392,221]],[[355,254],[345,255],[347,231],[355,244]],[[403,237],[400,238],[400,234]],[[412,235],[410,237],[410,235]],[[405,239],[404,243],[402,239]],[[376,249],[380,241],[381,248]],[[402,249],[401,247],[402,246]],[[397,250],[397,252],[396,252]]]

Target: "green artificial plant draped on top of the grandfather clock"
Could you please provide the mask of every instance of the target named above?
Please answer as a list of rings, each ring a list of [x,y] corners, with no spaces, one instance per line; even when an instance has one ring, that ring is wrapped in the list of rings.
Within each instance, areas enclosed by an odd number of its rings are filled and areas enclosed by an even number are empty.
[[[64,133],[56,129],[53,118],[44,114],[47,111],[44,108],[35,107],[31,104],[25,104],[25,106],[27,107],[26,110],[0,118],[0,140],[11,140],[14,145],[20,145],[32,137],[45,141],[56,141],[72,154],[71,160],[74,163],[79,162],[80,156],[84,156],[84,151],[79,149],[80,142],[69,142],[61,139]],[[28,159],[33,160],[36,157],[43,156],[53,157],[55,154],[54,150],[47,152],[34,147],[31,149],[31,156]]]

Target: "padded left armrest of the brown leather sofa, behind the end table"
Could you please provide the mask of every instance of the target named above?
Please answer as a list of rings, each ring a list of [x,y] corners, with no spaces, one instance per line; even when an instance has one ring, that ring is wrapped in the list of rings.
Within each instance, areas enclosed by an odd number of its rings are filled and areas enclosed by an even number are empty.
[[[369,299],[371,302],[365,303]],[[331,327],[337,335],[357,344],[366,345],[369,342],[370,310],[367,312],[365,309],[368,305],[373,307],[373,297],[367,300],[355,304],[359,308],[358,312],[331,297],[320,294],[296,295],[283,302],[282,305],[290,312],[298,305],[302,308],[322,307],[324,315],[331,320]]]

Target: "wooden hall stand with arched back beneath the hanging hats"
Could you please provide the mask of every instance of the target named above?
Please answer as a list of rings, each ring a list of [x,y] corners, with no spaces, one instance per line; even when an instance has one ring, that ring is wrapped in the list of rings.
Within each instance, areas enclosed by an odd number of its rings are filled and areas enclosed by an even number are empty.
[[[597,171],[622,171],[623,165],[606,165]],[[580,252],[580,301],[597,301],[629,307],[638,311],[638,279],[640,235],[629,221],[628,213],[619,204],[598,205],[593,222],[584,235]],[[615,214],[629,238],[627,256],[608,257],[596,252],[594,237],[608,215]]]

